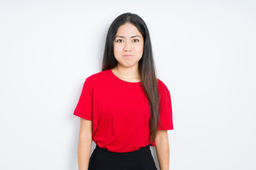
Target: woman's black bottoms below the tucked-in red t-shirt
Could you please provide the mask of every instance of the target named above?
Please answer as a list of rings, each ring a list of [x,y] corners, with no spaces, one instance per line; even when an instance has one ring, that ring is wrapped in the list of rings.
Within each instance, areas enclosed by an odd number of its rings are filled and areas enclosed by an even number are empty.
[[[134,152],[110,152],[96,145],[88,170],[157,170],[149,145]]]

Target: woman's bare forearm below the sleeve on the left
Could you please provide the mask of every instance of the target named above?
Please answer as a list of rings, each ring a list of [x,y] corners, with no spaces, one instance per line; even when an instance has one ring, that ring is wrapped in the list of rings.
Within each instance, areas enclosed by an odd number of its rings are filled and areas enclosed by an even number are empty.
[[[92,121],[81,118],[78,142],[78,167],[87,170],[92,149]]]

